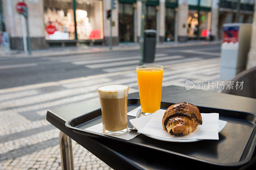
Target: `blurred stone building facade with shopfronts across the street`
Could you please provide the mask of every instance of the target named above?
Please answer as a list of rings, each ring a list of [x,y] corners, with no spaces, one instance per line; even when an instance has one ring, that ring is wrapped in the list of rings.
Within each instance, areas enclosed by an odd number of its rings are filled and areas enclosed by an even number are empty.
[[[26,32],[24,18],[15,5],[22,0],[0,0],[0,31],[8,32],[12,49],[22,50]],[[114,0],[112,42],[139,42],[140,0]],[[110,0],[24,0],[28,5],[28,23],[32,49],[48,46],[108,45]],[[147,0],[145,29],[157,31],[157,42],[204,39],[205,31],[221,38],[222,24],[252,22],[255,0]],[[75,26],[76,25],[76,26]],[[220,30],[220,31],[219,31]]]

